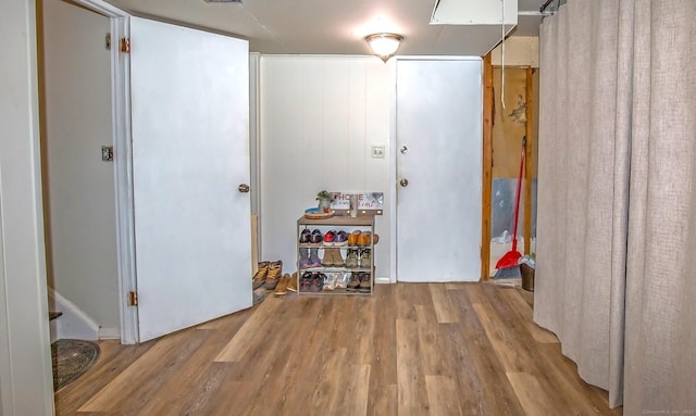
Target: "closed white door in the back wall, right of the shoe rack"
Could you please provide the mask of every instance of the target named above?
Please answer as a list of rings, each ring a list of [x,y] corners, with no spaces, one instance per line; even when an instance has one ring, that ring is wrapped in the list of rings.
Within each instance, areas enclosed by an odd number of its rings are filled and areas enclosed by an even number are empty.
[[[397,280],[481,275],[482,62],[397,61]]]

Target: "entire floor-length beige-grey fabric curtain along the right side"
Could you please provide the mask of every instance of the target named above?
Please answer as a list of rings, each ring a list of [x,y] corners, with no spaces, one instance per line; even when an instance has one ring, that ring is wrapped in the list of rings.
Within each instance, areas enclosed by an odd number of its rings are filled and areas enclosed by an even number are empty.
[[[696,1],[542,25],[534,320],[625,415],[696,409]]]

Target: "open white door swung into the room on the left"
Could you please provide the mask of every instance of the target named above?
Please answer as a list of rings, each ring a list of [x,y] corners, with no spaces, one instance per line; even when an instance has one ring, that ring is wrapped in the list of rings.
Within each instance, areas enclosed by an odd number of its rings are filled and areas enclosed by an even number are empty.
[[[146,341],[249,307],[248,42],[130,20],[138,326]]]

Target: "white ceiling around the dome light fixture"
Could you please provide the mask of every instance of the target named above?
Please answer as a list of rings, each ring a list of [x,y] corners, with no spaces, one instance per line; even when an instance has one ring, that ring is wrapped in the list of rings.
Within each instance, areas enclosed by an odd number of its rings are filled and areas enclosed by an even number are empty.
[[[363,38],[393,31],[399,55],[481,56],[500,40],[499,25],[430,25],[436,0],[107,0],[134,15],[206,28],[249,40],[249,50],[287,54],[368,54]],[[480,0],[502,1],[502,0]],[[544,0],[518,0],[512,36],[538,36]]]

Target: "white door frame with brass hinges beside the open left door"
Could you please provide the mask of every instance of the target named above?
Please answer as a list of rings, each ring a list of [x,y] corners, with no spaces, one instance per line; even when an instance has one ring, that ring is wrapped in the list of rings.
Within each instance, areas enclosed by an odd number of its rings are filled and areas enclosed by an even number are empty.
[[[133,205],[133,151],[130,146],[130,58],[121,52],[121,39],[129,38],[130,14],[102,0],[73,0],[110,20],[112,142],[114,147],[114,188],[116,192],[116,255],[119,267],[119,311],[121,343],[134,344],[138,338],[138,308],[128,305],[128,293],[137,292],[135,272],[135,220]]]

